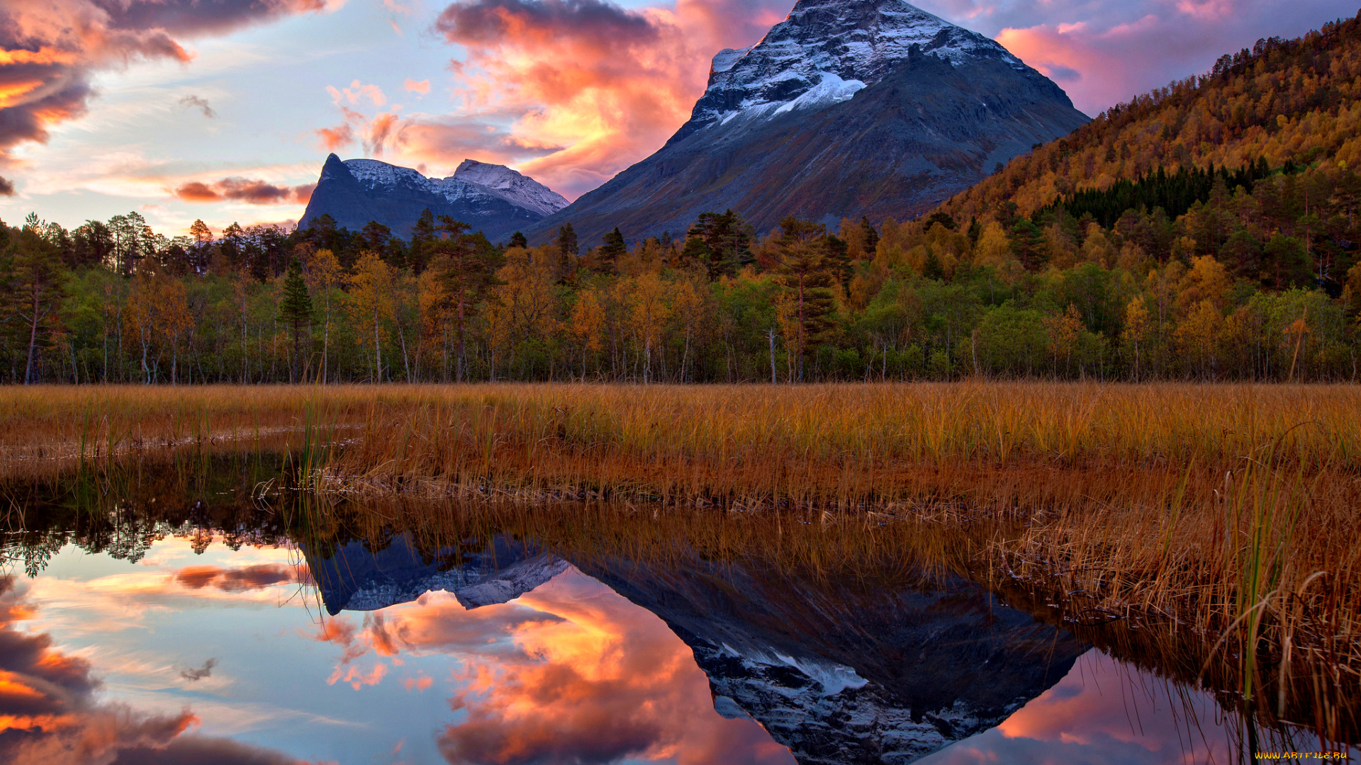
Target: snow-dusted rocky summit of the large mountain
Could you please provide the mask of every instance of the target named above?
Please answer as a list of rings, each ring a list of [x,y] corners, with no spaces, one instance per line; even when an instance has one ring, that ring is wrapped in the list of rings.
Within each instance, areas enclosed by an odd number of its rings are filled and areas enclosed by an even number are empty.
[[[904,0],[800,0],[749,49],[713,57],[691,123],[728,123],[736,112],[774,117],[847,101],[913,54],[953,65],[996,59],[1028,67],[981,34]],[[774,108],[770,108],[774,105]]]

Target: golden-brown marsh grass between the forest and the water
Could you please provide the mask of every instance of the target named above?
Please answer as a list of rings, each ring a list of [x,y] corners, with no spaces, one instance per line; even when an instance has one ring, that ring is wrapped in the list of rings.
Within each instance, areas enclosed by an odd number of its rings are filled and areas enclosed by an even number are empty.
[[[274,433],[313,487],[925,512],[998,587],[1161,614],[1241,656],[1248,697],[1259,659],[1361,666],[1351,385],[10,388],[0,422],[10,478]],[[1015,524],[965,534],[980,517]]]

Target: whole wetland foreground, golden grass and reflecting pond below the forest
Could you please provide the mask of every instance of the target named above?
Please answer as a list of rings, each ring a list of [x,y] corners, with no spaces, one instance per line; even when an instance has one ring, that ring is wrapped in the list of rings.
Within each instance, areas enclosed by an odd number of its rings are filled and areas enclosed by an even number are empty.
[[[10,391],[0,753],[1354,757],[1357,403]]]

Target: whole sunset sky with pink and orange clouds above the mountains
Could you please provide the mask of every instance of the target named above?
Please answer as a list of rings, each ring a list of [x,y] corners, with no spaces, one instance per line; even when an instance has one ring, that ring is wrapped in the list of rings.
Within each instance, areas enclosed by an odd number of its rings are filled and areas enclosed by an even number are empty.
[[[1337,0],[920,0],[1087,114]],[[0,219],[136,211],[158,233],[290,226],[328,152],[444,177],[509,165],[568,199],[656,151],[709,61],[791,0],[4,0]]]

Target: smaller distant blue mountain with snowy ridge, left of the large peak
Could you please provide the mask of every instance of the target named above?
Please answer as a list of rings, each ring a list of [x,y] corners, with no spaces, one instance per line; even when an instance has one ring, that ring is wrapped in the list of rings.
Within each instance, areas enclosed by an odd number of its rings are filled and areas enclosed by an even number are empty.
[[[426,208],[505,240],[568,206],[561,195],[504,165],[464,159],[448,178],[427,178],[377,159],[327,157],[301,226],[323,214],[358,231],[370,221],[407,237]]]

